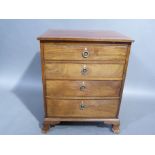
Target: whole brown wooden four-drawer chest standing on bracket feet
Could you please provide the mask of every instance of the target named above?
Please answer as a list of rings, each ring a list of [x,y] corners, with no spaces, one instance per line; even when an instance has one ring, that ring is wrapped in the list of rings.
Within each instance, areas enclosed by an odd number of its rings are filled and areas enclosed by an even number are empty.
[[[132,40],[112,31],[49,30],[40,37],[45,118],[102,121],[119,133],[119,109]]]

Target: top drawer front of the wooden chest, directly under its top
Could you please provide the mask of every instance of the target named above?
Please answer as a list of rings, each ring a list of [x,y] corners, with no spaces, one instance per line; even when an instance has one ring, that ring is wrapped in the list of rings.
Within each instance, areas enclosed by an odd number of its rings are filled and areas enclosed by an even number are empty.
[[[125,60],[127,45],[44,43],[45,60]]]

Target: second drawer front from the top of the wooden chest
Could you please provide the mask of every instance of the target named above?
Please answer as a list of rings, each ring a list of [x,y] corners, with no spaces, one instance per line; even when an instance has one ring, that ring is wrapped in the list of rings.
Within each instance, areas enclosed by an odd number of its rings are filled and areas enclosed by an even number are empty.
[[[122,80],[124,64],[45,64],[46,79]]]

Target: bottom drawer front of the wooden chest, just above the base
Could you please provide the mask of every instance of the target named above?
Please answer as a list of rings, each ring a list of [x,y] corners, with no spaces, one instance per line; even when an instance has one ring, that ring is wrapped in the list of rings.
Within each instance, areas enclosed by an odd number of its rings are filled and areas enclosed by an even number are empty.
[[[47,99],[48,117],[115,118],[119,100]]]

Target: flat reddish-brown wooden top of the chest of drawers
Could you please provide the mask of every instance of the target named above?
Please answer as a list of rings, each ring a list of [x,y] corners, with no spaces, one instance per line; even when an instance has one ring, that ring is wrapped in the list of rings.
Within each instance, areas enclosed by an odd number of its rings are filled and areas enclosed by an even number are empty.
[[[101,42],[133,42],[127,36],[114,31],[84,30],[48,30],[37,38],[51,41],[101,41]]]

